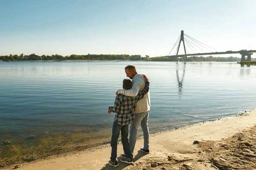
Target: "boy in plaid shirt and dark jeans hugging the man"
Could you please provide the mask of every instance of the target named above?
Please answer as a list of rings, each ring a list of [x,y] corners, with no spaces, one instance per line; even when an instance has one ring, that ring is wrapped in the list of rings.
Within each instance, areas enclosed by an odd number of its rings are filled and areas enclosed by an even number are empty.
[[[134,112],[135,107],[137,104],[137,101],[142,99],[149,90],[149,82],[148,78],[143,75],[143,78],[146,81],[145,88],[143,91],[140,91],[136,96],[125,96],[123,94],[119,94],[116,96],[116,100],[114,103],[114,106],[110,106],[108,108],[108,113],[111,114],[112,112],[116,113],[115,120],[113,122],[113,128],[112,128],[112,136],[111,136],[111,158],[109,161],[109,164],[117,167],[119,164],[116,161],[116,151],[117,151],[117,140],[119,137],[119,133],[121,130],[121,138],[122,138],[122,145],[125,152],[126,157],[120,159],[120,161],[128,164],[132,164],[132,155],[131,155],[131,149],[128,142],[128,126],[131,124],[132,121],[134,121]],[[129,79],[123,80],[123,89],[131,89],[132,82]]]

